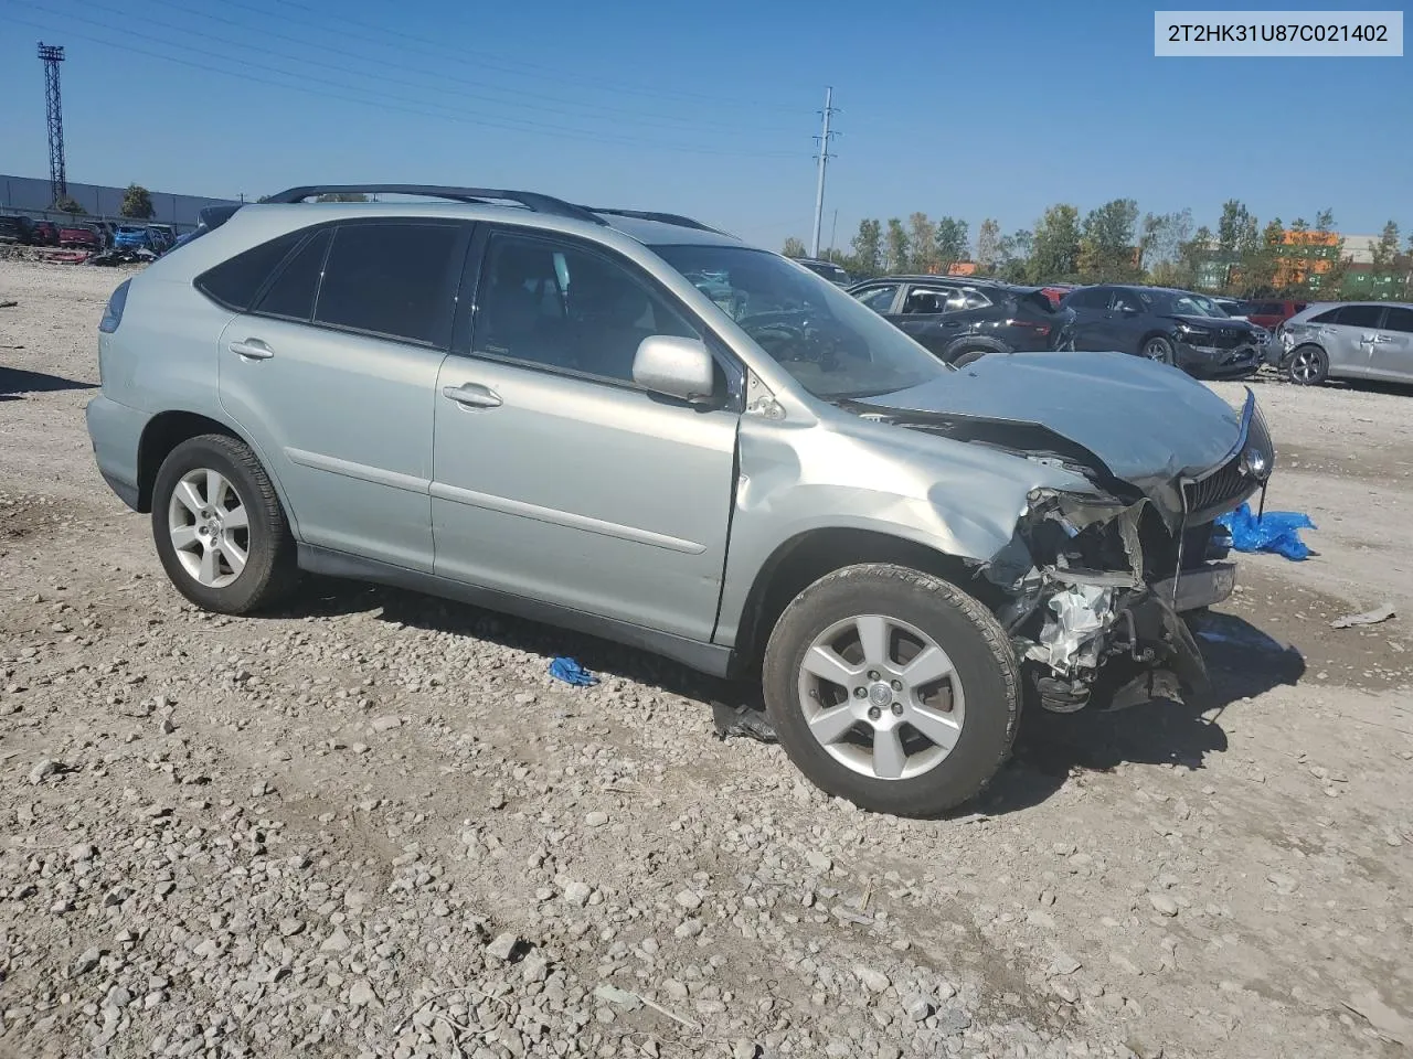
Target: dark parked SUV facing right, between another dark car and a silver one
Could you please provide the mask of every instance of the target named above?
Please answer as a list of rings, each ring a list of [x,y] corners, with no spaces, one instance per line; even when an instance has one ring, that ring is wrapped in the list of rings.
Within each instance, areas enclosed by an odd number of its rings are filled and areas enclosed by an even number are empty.
[[[1071,291],[1061,304],[1075,312],[1075,349],[1132,353],[1205,378],[1253,374],[1270,342],[1265,328],[1235,321],[1191,291],[1101,284]]]

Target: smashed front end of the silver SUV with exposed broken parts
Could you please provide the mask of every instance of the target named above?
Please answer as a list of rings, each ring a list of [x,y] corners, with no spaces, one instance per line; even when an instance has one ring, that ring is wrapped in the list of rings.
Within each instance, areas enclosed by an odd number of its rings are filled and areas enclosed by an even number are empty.
[[[1205,688],[1183,614],[1235,589],[1231,537],[1215,518],[1265,489],[1273,463],[1248,400],[1228,457],[1164,490],[1030,493],[988,576],[1012,596],[998,616],[1046,709],[1068,713],[1091,700],[1118,709]]]

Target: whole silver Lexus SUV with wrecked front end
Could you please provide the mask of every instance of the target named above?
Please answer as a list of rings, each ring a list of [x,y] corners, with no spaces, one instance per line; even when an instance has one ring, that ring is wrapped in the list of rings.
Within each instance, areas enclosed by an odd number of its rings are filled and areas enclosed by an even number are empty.
[[[99,330],[97,465],[198,606],[309,570],[759,679],[811,781],[900,815],[976,795],[1026,700],[1200,686],[1178,614],[1231,592],[1212,520],[1275,459],[1249,391],[957,370],[784,257],[536,193],[297,188]]]

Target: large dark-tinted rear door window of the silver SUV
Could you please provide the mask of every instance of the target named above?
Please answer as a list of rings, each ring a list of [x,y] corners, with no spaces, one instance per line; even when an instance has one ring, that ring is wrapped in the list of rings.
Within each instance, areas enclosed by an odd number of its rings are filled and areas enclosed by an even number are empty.
[[[449,346],[468,232],[466,225],[414,220],[341,225],[324,265],[314,322]]]

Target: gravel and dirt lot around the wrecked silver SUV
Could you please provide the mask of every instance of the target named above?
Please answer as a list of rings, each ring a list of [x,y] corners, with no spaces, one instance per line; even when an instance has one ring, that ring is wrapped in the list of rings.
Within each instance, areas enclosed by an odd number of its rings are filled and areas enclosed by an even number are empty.
[[[647,655],[185,606],[83,428],[120,278],[0,261],[0,1055],[1413,1046],[1413,394],[1259,380],[1318,554],[1243,556],[1211,699],[1027,717],[979,812],[899,822]]]

